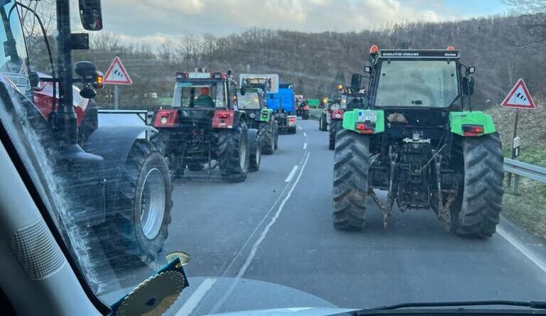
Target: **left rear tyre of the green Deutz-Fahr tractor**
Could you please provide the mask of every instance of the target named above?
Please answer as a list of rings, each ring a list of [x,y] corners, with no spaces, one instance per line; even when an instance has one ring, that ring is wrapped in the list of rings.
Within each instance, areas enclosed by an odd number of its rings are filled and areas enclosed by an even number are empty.
[[[370,139],[343,129],[333,156],[333,227],[361,229],[368,196]]]

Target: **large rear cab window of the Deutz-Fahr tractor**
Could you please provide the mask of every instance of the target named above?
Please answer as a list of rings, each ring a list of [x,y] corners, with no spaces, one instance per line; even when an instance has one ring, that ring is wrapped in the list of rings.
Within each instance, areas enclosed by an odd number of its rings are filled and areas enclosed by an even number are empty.
[[[449,107],[459,96],[456,62],[385,60],[378,73],[376,107]]]

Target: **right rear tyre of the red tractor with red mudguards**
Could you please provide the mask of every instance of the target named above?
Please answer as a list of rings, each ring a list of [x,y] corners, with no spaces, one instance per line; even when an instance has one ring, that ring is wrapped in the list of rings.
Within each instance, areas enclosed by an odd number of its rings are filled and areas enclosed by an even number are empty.
[[[228,182],[242,182],[247,178],[250,164],[248,129],[240,122],[234,129],[218,134],[218,162],[222,178]]]

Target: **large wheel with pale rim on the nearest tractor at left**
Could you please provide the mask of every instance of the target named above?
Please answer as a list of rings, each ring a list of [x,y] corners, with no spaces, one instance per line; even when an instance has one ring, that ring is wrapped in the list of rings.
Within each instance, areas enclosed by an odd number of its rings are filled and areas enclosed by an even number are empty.
[[[113,239],[122,236],[129,251],[144,263],[156,262],[171,223],[173,185],[166,160],[154,143],[135,141],[117,187],[116,212],[106,220],[114,229]]]

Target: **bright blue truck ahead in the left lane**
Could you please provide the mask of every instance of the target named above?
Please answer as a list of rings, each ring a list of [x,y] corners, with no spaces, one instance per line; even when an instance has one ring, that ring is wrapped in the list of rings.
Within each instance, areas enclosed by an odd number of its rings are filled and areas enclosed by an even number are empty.
[[[278,92],[267,93],[267,107],[273,110],[273,116],[279,131],[296,134],[296,97],[294,85],[289,82],[279,83]]]

